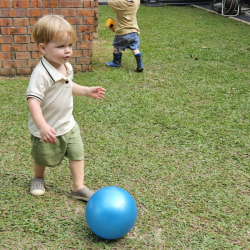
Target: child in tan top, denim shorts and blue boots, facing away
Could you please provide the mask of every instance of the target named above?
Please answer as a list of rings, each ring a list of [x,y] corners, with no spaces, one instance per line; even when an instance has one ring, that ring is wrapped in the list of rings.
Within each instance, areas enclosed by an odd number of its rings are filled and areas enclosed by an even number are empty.
[[[113,41],[113,61],[107,62],[109,67],[120,67],[121,50],[131,49],[137,62],[137,72],[143,71],[142,54],[139,50],[140,30],[136,13],[140,7],[140,0],[108,0],[108,5],[115,12],[115,38]]]

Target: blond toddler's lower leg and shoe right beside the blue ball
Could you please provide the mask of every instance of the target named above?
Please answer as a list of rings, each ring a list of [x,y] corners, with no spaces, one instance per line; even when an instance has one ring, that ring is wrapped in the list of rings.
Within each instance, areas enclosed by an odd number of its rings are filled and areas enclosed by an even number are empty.
[[[88,201],[94,192],[84,185],[84,161],[70,160],[69,166],[73,180],[71,196],[78,200]]]

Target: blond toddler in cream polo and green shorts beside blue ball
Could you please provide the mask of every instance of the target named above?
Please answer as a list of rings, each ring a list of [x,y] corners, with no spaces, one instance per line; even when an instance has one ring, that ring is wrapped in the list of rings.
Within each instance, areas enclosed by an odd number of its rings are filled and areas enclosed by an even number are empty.
[[[58,166],[66,156],[73,181],[71,196],[88,201],[94,192],[84,185],[84,150],[79,126],[72,115],[73,95],[101,99],[105,89],[73,82],[73,68],[68,60],[73,54],[76,34],[62,16],[39,19],[34,25],[33,37],[43,56],[31,74],[27,89],[34,159],[30,193],[45,193],[45,167]]]

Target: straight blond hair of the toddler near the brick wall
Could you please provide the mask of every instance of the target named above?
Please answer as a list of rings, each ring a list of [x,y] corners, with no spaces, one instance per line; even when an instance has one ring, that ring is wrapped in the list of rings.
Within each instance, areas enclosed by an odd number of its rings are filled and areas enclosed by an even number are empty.
[[[54,39],[65,40],[66,44],[76,42],[74,28],[59,15],[47,15],[39,19],[33,27],[32,35],[37,46],[40,43],[48,44]]]

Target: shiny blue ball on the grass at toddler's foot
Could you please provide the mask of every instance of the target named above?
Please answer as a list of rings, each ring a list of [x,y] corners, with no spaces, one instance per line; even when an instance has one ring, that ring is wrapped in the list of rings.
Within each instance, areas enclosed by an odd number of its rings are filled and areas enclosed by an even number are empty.
[[[89,199],[86,211],[89,228],[101,238],[118,239],[127,234],[137,218],[134,198],[120,187],[104,187]]]

